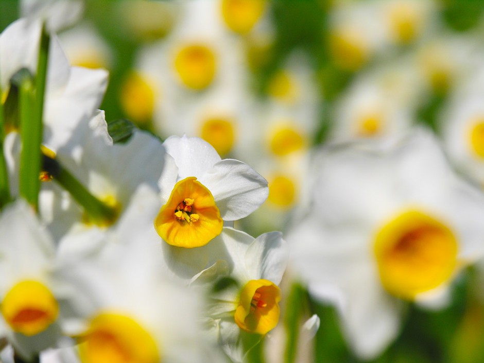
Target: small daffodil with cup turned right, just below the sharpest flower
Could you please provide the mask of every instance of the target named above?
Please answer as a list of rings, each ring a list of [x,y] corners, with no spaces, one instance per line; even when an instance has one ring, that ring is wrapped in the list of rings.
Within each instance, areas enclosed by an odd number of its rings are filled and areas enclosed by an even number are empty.
[[[240,362],[247,353],[243,335],[265,335],[279,322],[285,241],[280,232],[254,238],[225,227],[212,244],[226,251],[228,276],[234,283],[210,292],[206,323],[223,351]]]

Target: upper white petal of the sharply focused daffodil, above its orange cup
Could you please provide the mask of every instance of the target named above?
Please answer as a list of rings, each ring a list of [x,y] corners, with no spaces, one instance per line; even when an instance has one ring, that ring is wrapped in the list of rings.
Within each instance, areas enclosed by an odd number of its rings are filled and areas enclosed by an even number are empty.
[[[166,152],[178,166],[179,179],[202,177],[216,162],[220,161],[217,151],[199,137],[170,136],[163,143]]]

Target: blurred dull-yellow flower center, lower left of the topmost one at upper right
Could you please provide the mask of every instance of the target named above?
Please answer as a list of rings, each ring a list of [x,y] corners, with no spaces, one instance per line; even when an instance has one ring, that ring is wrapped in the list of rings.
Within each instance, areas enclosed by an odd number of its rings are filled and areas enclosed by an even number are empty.
[[[358,31],[350,28],[333,31],[330,36],[330,51],[334,62],[349,71],[358,70],[369,57],[365,39]]]

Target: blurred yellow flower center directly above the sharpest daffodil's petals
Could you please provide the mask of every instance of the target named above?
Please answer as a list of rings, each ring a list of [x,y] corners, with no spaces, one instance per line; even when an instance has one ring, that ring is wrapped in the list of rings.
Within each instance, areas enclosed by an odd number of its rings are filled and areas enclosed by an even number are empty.
[[[210,143],[219,155],[225,155],[234,145],[234,125],[228,119],[209,118],[202,124],[200,136]]]

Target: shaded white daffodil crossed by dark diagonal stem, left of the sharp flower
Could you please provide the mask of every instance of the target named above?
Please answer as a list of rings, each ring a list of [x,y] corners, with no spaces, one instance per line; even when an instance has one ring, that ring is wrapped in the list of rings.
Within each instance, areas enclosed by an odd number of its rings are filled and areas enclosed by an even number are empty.
[[[83,135],[82,147],[72,153],[64,153],[61,148],[57,159],[92,195],[113,208],[116,216],[113,220],[92,220],[72,198],[45,188],[42,215],[56,238],[62,237],[65,243],[83,233],[94,233],[102,239],[103,231],[116,223],[141,184],[158,192],[165,156],[162,143],[139,130],[128,142],[113,144],[102,111],[91,119],[84,134],[78,131],[78,137]]]

